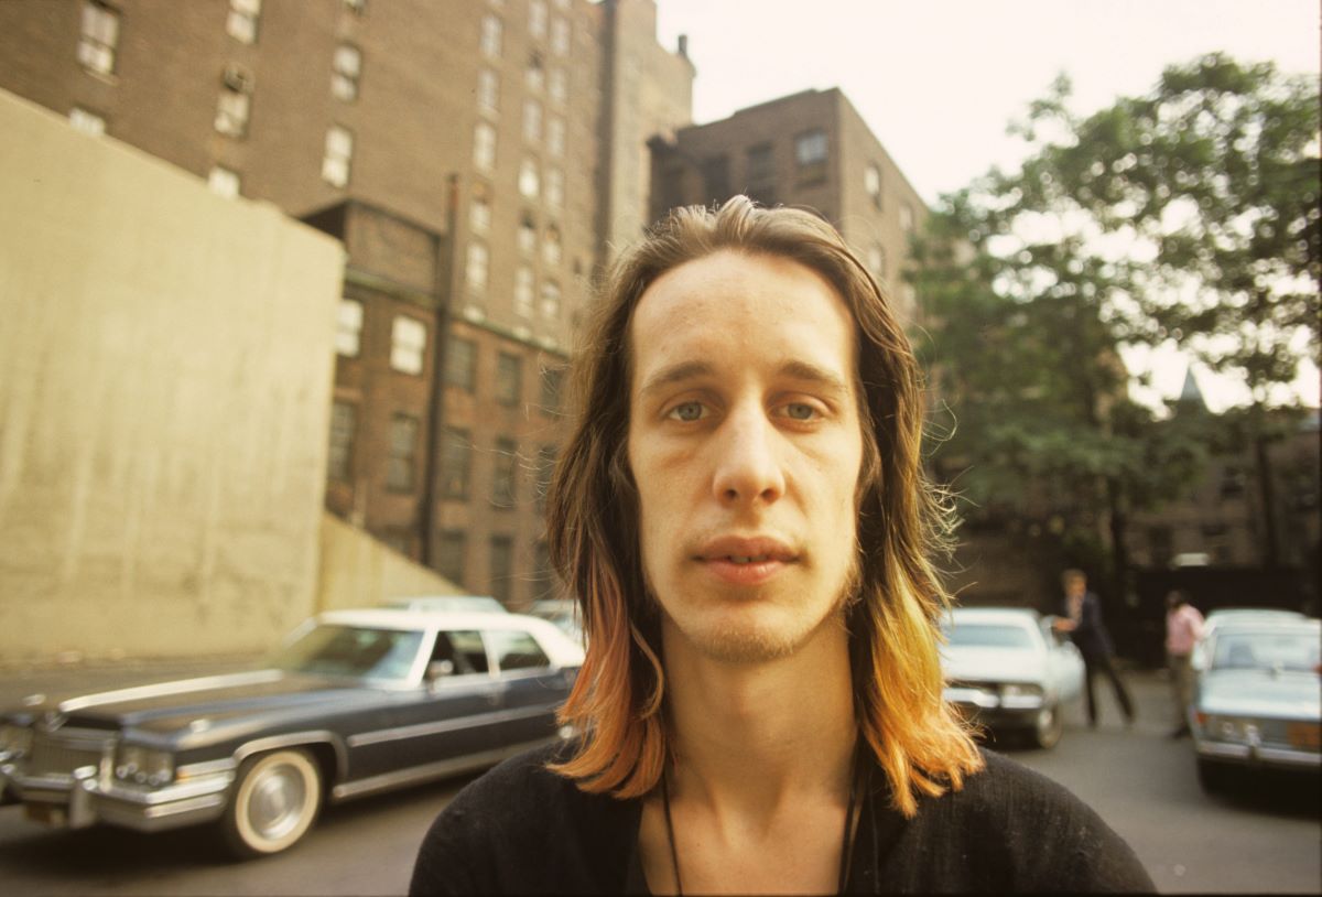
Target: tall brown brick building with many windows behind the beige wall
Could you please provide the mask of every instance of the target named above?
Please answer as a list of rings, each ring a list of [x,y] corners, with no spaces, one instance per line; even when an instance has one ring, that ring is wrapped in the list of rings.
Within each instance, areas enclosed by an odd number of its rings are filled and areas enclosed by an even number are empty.
[[[327,505],[522,605],[571,336],[648,224],[629,160],[690,120],[654,26],[653,0],[5,0],[0,89],[338,237]]]

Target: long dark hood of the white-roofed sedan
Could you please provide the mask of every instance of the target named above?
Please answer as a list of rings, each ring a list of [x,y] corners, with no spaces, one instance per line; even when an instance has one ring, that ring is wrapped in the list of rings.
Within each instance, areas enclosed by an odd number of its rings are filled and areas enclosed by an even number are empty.
[[[180,733],[214,736],[258,721],[292,721],[330,708],[346,712],[379,705],[381,691],[354,680],[258,669],[81,695],[50,709],[62,714],[67,725],[168,738]]]

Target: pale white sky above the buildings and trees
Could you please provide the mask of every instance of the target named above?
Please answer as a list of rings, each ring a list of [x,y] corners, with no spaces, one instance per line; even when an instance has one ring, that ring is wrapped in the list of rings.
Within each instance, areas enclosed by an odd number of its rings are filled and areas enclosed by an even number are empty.
[[[1318,0],[657,0],[657,38],[689,36],[697,123],[810,87],[839,87],[928,202],[1022,159],[1006,124],[1060,73],[1073,108],[1146,93],[1167,65],[1224,50],[1318,75]],[[1187,361],[1129,357],[1174,396]],[[1195,368],[1208,405],[1243,386]],[[1297,392],[1318,405],[1318,372]],[[1153,401],[1154,393],[1136,390]]]

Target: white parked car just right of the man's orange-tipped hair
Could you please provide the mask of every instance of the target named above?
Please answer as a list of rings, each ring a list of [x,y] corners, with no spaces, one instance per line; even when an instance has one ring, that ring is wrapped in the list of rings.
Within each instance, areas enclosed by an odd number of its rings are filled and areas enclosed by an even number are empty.
[[[1054,748],[1083,693],[1083,656],[1027,607],[956,607],[943,626],[945,700],[993,732]]]

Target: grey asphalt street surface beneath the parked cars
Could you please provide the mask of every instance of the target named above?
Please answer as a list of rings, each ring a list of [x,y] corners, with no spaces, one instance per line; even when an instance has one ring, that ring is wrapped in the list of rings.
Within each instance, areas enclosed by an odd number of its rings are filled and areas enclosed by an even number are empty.
[[[1171,741],[1166,683],[1130,673],[1126,730],[1103,692],[1101,726],[1075,712],[1054,751],[1007,750],[1066,783],[1133,844],[1162,892],[1322,890],[1317,781],[1272,781],[1233,798],[1202,794],[1187,740]],[[0,880],[13,894],[399,894],[452,779],[327,810],[287,855],[233,863],[206,830],[140,835],[50,831],[0,810]]]

